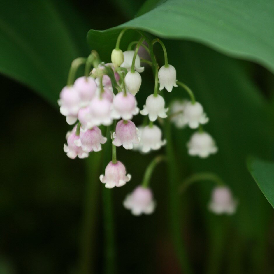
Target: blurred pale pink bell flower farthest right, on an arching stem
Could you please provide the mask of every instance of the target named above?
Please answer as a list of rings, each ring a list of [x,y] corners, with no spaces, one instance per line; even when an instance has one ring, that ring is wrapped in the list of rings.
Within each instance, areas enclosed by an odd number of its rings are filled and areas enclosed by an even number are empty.
[[[210,211],[215,214],[233,214],[236,211],[238,202],[233,199],[228,187],[215,187],[212,191],[212,198],[208,205]]]

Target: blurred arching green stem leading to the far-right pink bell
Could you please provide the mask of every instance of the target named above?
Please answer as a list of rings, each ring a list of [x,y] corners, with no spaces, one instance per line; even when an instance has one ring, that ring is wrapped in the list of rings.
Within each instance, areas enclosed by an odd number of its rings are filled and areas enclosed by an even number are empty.
[[[181,185],[179,186],[179,193],[185,192],[185,190],[195,182],[199,181],[211,181],[218,186],[224,186],[224,181],[215,173],[211,172],[201,172],[193,174],[190,177],[186,178]]]

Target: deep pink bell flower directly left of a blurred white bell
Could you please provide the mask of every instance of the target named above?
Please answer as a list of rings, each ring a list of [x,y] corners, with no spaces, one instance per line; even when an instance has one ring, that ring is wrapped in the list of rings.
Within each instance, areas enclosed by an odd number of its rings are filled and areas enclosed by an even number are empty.
[[[134,122],[128,120],[120,120],[117,125],[115,132],[113,132],[113,144],[117,147],[121,145],[125,149],[132,149],[133,144],[138,144],[140,142],[140,137],[138,136],[138,129]]]

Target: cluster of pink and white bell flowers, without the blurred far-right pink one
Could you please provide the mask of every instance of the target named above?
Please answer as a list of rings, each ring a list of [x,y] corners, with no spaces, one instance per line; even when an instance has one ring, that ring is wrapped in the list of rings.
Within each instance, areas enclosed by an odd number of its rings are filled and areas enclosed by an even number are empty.
[[[116,47],[111,52],[111,63],[101,62],[95,51],[88,58],[75,59],[68,83],[58,100],[60,112],[66,117],[66,122],[73,125],[78,121],[72,131],[68,132],[67,144],[64,144],[64,152],[69,158],[88,157],[90,152],[100,151],[101,145],[111,139],[112,161],[100,176],[100,181],[106,188],[121,187],[131,180],[124,164],[116,159],[116,147],[122,146],[126,150],[134,149],[142,153],[159,150],[166,144],[161,130],[161,125],[165,122],[163,119],[174,122],[178,128],[199,128],[187,143],[190,155],[205,158],[217,152],[215,141],[201,126],[208,122],[203,106],[195,100],[194,94],[186,85],[177,81],[176,69],[168,64],[164,44],[159,39],[146,41],[148,49],[143,43],[144,38],[141,38],[136,42],[135,50],[129,47],[122,52],[119,48],[121,37],[119,35]],[[165,64],[159,70],[152,54],[156,42],[161,44],[165,55]],[[149,52],[152,61],[140,58],[138,50],[141,45]],[[155,85],[140,110],[137,98],[142,85],[141,73],[145,70],[141,62],[152,66]],[[75,80],[76,71],[82,64],[85,64],[85,76]],[[189,93],[190,100],[175,101],[167,107],[164,97],[172,92],[173,87],[178,86]],[[144,117],[141,126],[136,127],[133,119],[139,113],[147,117]],[[106,137],[102,135],[105,127],[110,131]],[[148,167],[149,175],[144,177],[142,185],[136,187],[124,201],[124,207],[134,215],[150,214],[154,211],[155,201],[151,189],[148,188],[147,178],[150,178],[152,169],[159,162],[159,158],[157,159]]]

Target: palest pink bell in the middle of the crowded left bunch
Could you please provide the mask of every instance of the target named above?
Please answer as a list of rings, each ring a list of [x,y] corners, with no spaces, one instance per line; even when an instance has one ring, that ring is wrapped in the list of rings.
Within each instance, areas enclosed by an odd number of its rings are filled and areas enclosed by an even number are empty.
[[[90,124],[92,127],[99,125],[109,126],[112,124],[111,107],[112,104],[108,99],[100,99],[98,97],[92,99],[89,105],[92,119]]]

